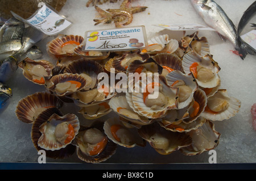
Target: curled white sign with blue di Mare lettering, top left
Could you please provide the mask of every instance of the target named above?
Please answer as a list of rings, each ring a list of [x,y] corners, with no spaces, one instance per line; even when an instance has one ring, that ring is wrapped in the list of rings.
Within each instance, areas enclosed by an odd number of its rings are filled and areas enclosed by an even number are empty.
[[[67,19],[57,14],[55,10],[49,8],[46,3],[43,3],[42,7],[29,19],[23,19],[12,11],[11,13],[15,18],[21,19],[24,23],[37,28],[49,36],[60,33],[72,24]]]

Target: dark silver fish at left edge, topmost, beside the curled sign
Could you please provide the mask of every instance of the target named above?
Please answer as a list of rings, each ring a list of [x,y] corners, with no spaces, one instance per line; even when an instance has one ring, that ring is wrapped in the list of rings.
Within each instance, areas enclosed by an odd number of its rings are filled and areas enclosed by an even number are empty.
[[[22,33],[25,28],[23,22],[16,18],[10,18],[0,28],[0,42],[7,40],[20,40],[22,39]]]

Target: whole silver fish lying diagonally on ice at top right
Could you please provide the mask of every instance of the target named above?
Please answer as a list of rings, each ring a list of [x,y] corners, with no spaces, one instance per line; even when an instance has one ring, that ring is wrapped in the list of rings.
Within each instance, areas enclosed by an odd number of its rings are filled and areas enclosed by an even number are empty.
[[[225,11],[213,0],[191,0],[191,3],[204,22],[222,37],[228,39],[243,59],[247,50],[243,44],[237,41],[237,30],[232,20],[229,19]]]

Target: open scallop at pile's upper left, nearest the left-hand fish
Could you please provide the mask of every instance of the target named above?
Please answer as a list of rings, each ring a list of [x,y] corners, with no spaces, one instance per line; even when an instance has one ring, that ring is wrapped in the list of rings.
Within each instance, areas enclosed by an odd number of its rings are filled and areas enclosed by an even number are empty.
[[[38,85],[44,85],[44,78],[51,77],[51,71],[55,68],[47,60],[32,60],[28,57],[19,62],[18,66],[23,70],[22,73],[25,78]]]

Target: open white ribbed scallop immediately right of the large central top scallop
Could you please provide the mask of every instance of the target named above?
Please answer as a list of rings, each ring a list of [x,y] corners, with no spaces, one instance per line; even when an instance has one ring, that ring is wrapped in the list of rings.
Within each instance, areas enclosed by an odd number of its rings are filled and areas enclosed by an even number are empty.
[[[193,100],[194,92],[198,89],[198,86],[197,86],[196,82],[194,81],[194,78],[192,77],[192,75],[191,74],[188,74],[188,75],[183,74],[179,70],[173,70],[166,75],[166,79],[167,79],[168,85],[179,88],[178,109],[188,106],[188,104],[191,103],[191,101]],[[181,91],[182,87],[180,88],[179,83],[176,83],[177,81],[184,82],[183,86],[188,86],[189,89],[191,90],[191,93],[189,93],[189,95],[185,95],[184,94],[185,91]],[[181,96],[181,92],[182,92],[182,96]]]

